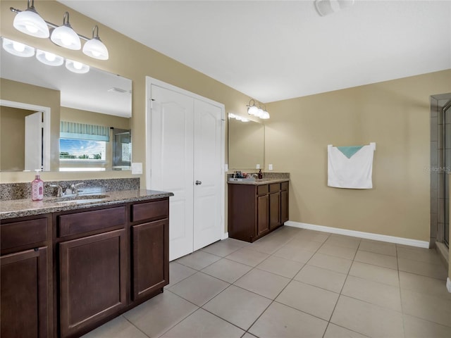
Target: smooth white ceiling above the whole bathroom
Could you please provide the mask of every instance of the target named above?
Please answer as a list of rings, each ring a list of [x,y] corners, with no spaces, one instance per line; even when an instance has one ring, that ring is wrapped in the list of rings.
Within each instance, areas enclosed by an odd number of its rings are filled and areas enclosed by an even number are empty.
[[[451,68],[451,1],[58,1],[262,103]]]

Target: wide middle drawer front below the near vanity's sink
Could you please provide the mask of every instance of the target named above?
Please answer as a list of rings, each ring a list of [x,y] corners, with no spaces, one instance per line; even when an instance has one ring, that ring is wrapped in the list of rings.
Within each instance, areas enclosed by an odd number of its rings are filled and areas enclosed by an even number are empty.
[[[58,216],[58,237],[125,225],[125,206]]]

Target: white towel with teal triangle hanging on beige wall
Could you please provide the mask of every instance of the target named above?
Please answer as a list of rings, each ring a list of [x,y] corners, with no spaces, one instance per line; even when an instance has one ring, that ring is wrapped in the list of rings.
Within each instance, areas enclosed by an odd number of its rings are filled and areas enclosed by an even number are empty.
[[[376,143],[367,146],[327,146],[327,185],[336,188],[373,188],[373,154]]]

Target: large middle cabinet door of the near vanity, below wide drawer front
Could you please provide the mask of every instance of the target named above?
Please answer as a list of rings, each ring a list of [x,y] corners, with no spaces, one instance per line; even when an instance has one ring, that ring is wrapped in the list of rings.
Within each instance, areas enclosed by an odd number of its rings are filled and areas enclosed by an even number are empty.
[[[59,249],[61,337],[78,337],[126,305],[125,230],[62,242]]]

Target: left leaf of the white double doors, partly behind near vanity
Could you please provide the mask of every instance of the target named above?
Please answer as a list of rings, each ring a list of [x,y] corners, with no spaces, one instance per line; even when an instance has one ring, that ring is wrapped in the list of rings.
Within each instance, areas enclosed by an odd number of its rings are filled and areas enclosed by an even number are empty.
[[[192,253],[193,101],[152,86],[151,189],[169,199],[169,260]]]

